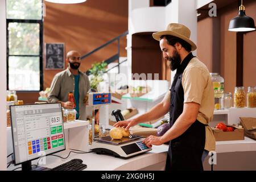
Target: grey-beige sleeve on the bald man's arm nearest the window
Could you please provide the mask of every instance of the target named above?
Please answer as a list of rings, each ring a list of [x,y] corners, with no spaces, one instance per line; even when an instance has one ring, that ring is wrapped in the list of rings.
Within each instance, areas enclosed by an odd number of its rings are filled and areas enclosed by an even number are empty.
[[[52,80],[51,89],[48,96],[48,102],[57,102],[60,94],[60,77],[55,76]]]

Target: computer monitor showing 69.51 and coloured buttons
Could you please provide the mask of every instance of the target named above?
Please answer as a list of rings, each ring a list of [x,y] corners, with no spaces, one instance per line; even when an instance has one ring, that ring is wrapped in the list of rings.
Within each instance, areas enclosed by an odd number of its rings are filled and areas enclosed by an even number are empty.
[[[65,150],[60,103],[10,106],[15,165],[31,169],[31,160]]]

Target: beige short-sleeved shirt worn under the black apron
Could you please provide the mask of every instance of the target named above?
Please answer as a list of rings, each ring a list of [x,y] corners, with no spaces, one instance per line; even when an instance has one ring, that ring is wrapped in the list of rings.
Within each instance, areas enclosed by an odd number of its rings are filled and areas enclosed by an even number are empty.
[[[213,119],[214,92],[213,83],[207,67],[197,57],[193,57],[182,76],[184,103],[196,102],[200,104],[197,120],[208,125]],[[170,101],[171,92],[168,91],[164,100]],[[215,138],[209,125],[205,127],[205,150],[214,151]]]

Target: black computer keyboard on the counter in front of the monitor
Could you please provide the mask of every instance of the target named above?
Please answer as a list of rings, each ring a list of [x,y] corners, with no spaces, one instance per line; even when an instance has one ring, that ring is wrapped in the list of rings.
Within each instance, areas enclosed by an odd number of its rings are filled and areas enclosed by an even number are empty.
[[[82,164],[81,159],[72,159],[69,162],[52,168],[51,171],[82,171],[82,169],[85,169],[86,167],[87,165]]]

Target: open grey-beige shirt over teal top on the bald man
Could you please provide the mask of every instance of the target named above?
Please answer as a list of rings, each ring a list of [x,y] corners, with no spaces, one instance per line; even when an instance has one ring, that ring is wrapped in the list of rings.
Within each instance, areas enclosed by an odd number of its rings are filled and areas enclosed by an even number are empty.
[[[86,93],[90,90],[90,82],[87,75],[79,71],[79,114],[81,120],[86,120],[86,105],[83,100]],[[69,68],[57,73],[52,80],[51,91],[49,92],[48,102],[67,102],[68,93],[75,91],[75,78]]]

